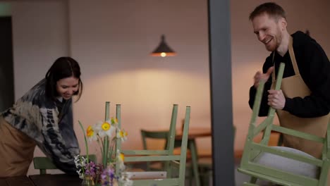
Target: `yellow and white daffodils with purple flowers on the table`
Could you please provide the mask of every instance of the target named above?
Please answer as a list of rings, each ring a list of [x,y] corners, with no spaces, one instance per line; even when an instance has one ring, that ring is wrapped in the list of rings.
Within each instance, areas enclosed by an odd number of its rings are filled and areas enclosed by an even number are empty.
[[[105,122],[99,121],[95,125],[88,126],[86,132],[79,121],[80,128],[84,131],[87,156],[75,156],[75,166],[79,169],[79,177],[83,180],[82,185],[111,185],[118,182],[123,185],[133,185],[130,175],[125,171],[124,156],[115,151],[116,140],[126,141],[127,132],[118,128],[118,120],[111,118]],[[117,133],[114,135],[114,133]],[[88,142],[96,141],[102,152],[102,164],[95,164],[88,156]],[[119,162],[119,173],[115,173],[116,161]],[[86,182],[86,184],[84,183]]]

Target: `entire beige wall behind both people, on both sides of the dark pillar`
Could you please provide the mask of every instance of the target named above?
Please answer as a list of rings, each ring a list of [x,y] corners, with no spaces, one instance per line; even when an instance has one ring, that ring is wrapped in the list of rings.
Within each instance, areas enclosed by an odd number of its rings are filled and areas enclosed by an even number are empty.
[[[228,81],[232,82],[236,156],[243,150],[250,120],[247,101],[252,77],[269,55],[248,20],[263,2],[231,1],[232,80]],[[275,2],[287,12],[289,32],[310,30],[330,55],[330,1]],[[15,100],[41,80],[59,56],[72,56],[80,63],[84,89],[73,111],[82,154],[78,120],[85,128],[103,120],[105,101],[111,102],[111,116],[115,105],[121,104],[126,149],[142,149],[140,129],[168,128],[173,104],[179,105],[178,128],[185,106],[192,108],[191,128],[211,128],[206,0],[3,0],[0,16],[12,17]],[[161,35],[176,56],[149,56]],[[211,137],[197,140],[199,151],[211,147]],[[90,149],[95,152],[98,147]],[[35,156],[44,155],[36,148]],[[28,174],[36,173],[30,166]]]

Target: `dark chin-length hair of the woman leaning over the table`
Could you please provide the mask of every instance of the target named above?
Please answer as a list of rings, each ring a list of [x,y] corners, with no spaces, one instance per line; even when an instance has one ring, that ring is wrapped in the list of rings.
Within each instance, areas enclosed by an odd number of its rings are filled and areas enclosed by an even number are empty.
[[[80,80],[80,66],[77,61],[71,57],[60,57],[56,59],[51,68],[46,73],[46,95],[51,99],[59,96],[56,90],[56,82],[66,78],[75,77],[79,80],[78,91],[74,95],[78,95],[77,101],[82,94],[82,81]]]

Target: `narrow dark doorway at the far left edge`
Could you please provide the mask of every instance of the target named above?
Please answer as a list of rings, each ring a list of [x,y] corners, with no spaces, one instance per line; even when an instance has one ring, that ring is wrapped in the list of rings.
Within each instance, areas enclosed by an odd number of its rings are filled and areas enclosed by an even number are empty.
[[[13,39],[11,17],[0,17],[0,112],[13,106]]]

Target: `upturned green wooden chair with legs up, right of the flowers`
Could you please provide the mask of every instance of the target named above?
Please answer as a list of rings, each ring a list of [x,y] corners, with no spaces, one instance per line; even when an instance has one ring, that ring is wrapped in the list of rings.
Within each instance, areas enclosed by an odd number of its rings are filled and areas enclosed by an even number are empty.
[[[108,111],[106,111],[108,112]],[[176,136],[176,119],[178,115],[178,105],[173,105],[173,111],[171,116],[171,125],[169,135],[167,138],[167,147],[165,150],[122,150],[121,140],[116,141],[116,151],[121,151],[125,154],[125,162],[152,162],[152,161],[164,161],[166,178],[162,179],[141,179],[133,180],[134,185],[180,185],[185,184],[185,161],[187,156],[187,144],[188,144],[188,128],[190,123],[190,106],[185,108],[185,123],[183,127],[183,137],[181,142],[181,154],[174,155],[174,141]],[[121,105],[116,106],[116,118],[118,118],[118,128],[121,128]],[[116,162],[116,173],[119,171],[119,162]],[[173,165],[178,166],[178,177],[172,178]],[[146,175],[152,173],[152,171],[143,172]],[[146,176],[148,177],[148,176]]]

